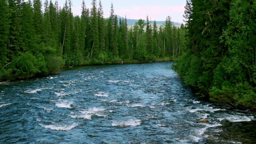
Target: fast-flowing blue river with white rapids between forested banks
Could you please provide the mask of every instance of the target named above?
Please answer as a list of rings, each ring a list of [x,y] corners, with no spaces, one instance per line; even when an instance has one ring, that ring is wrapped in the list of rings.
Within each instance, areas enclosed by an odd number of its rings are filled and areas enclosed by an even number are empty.
[[[2,83],[0,143],[256,142],[255,115],[198,100],[172,64],[69,68]],[[201,118],[210,123],[196,123]]]

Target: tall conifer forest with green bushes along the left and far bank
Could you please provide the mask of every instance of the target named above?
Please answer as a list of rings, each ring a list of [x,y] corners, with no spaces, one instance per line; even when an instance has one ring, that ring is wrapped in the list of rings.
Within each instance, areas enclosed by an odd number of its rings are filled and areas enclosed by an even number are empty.
[[[0,0],[0,81],[60,72],[64,66],[111,64],[177,58],[186,51],[186,29],[170,16],[158,28],[140,19],[128,29],[111,5],[103,17],[101,1],[84,0],[81,15],[72,13],[72,1]]]

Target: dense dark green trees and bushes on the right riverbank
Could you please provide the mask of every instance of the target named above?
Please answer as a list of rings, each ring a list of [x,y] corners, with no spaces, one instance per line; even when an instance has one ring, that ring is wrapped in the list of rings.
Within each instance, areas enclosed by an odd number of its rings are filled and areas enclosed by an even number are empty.
[[[201,96],[256,108],[256,1],[187,0],[187,52],[174,69]]]

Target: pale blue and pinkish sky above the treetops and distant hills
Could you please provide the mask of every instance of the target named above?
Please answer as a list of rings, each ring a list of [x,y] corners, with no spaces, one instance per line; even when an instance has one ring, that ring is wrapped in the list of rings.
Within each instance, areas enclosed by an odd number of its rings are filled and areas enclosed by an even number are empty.
[[[42,0],[44,2],[44,0]],[[58,4],[63,7],[66,0],[58,0]],[[91,8],[92,0],[84,0],[86,7]],[[52,0],[55,2],[55,0]],[[98,4],[99,0],[97,0]],[[148,18],[156,21],[164,21],[167,16],[172,18],[173,22],[183,22],[184,6],[186,0],[101,0],[104,17],[110,15],[111,2],[113,2],[114,13],[119,16],[126,16],[128,19]],[[75,15],[81,15],[82,0],[72,0],[72,12]]]

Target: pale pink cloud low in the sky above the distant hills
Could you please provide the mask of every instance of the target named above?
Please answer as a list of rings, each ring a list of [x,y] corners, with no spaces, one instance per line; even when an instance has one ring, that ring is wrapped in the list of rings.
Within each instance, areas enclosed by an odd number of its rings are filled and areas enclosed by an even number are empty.
[[[115,14],[126,16],[130,19],[165,20],[171,16],[173,21],[181,22],[184,14],[184,5],[180,6],[136,6],[131,9],[115,10]]]

